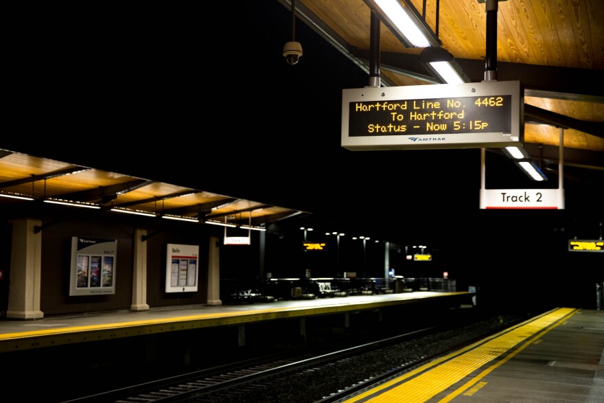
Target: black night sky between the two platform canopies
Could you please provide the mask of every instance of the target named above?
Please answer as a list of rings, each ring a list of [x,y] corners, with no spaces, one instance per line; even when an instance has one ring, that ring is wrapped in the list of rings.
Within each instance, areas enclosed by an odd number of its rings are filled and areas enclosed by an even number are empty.
[[[368,74],[301,21],[303,56],[288,65],[291,14],[276,0],[215,3],[24,11],[27,58],[14,65],[23,118],[1,147],[302,209],[400,242],[513,240],[510,222],[548,235],[594,226],[583,208],[593,187],[580,185],[566,211],[480,211],[479,149],[343,149],[342,89],[366,86]],[[487,187],[509,184],[536,187],[487,152]]]

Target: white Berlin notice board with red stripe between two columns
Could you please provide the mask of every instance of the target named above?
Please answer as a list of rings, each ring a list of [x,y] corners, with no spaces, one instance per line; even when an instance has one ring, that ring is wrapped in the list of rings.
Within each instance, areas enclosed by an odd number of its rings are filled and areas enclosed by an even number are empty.
[[[165,292],[197,291],[199,246],[167,244]]]

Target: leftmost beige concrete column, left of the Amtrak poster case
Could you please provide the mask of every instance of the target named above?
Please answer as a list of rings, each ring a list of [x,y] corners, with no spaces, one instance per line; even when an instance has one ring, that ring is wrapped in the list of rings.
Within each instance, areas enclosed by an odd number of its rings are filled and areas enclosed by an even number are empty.
[[[41,319],[40,288],[42,273],[42,233],[34,233],[40,220],[11,220],[10,285],[8,292],[9,319]]]

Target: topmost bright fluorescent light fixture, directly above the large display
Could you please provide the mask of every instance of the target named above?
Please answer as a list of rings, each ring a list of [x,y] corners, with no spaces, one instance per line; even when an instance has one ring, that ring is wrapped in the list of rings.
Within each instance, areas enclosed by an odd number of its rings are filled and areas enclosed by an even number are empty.
[[[397,0],[365,0],[365,3],[406,47],[441,45],[413,4]]]

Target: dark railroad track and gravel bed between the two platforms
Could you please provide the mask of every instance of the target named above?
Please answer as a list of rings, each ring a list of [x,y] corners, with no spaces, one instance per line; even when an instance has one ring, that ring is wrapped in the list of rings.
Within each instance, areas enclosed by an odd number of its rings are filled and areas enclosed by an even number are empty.
[[[426,327],[344,349],[266,356],[68,402],[338,402],[369,384],[498,332],[511,321],[489,319],[489,325],[483,321],[466,327]]]

